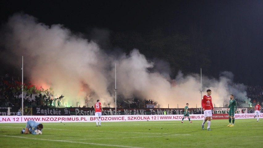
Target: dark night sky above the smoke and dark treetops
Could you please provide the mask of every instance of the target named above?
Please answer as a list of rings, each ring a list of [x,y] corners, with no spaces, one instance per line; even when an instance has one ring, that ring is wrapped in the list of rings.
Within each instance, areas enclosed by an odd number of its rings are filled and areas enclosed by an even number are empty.
[[[1,1],[1,24],[16,12],[74,32],[106,28],[188,34],[196,25],[211,52],[212,76],[231,71],[234,82],[263,84],[263,1]],[[140,50],[140,49],[139,49]],[[199,72],[199,71],[198,71]]]

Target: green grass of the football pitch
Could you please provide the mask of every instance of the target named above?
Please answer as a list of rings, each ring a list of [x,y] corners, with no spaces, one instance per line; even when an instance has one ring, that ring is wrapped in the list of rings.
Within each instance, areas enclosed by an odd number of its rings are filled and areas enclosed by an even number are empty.
[[[263,120],[236,119],[235,127],[226,127],[228,120],[211,120],[207,131],[201,120],[181,121],[43,123],[42,135],[20,134],[25,123],[1,123],[0,147],[3,148],[67,148],[67,147],[262,147]]]

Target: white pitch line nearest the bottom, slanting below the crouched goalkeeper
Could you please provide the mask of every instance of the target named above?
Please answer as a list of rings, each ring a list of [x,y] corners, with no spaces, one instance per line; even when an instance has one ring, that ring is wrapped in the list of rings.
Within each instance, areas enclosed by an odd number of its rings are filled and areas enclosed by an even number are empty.
[[[143,148],[143,147],[134,147],[134,146],[119,146],[119,145],[109,145],[109,144],[99,144],[99,143],[88,143],[88,142],[73,142],[73,141],[65,141],[65,140],[38,139],[38,138],[28,138],[28,137],[19,137],[19,136],[7,136],[7,135],[0,135],[0,136],[15,137],[15,138],[25,138],[25,139],[35,139],[35,140],[44,140],[44,141],[55,141],[55,142],[81,143],[81,144],[90,144],[90,145],[98,145],[98,146],[115,146],[115,147],[127,147],[127,148]]]

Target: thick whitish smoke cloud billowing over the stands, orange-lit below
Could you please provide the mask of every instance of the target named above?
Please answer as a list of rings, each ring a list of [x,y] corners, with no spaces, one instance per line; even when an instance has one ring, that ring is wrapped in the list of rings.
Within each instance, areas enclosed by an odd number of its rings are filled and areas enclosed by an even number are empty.
[[[2,26],[1,44],[5,49],[1,58],[20,69],[23,56],[25,76],[32,84],[52,87],[57,94],[65,95],[67,106],[76,102],[86,105],[83,98],[94,92],[89,104],[100,99],[104,107],[108,103],[115,107],[116,63],[118,93],[125,98],[152,99],[162,108],[168,108],[168,104],[169,108],[183,108],[186,103],[190,108],[201,107],[200,74],[184,76],[179,72],[171,80],[169,74],[150,72],[157,63],[148,61],[138,49],[112,56],[60,24],[47,26],[33,16],[15,14]],[[243,84],[239,84],[241,89],[229,87],[232,77],[230,72],[222,73],[218,80],[203,76],[202,95],[211,89],[215,107],[227,104],[230,94],[247,100]]]

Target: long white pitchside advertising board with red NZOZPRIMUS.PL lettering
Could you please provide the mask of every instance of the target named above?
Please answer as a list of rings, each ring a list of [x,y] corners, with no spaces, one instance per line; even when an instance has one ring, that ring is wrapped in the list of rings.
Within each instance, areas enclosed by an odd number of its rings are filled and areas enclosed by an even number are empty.
[[[228,119],[226,114],[213,114],[212,119]],[[181,121],[182,115],[106,115],[102,116],[102,122],[122,122],[122,121]],[[260,118],[263,113],[260,114]],[[236,119],[254,118],[254,114],[235,114]],[[190,115],[191,121],[203,120],[204,115]],[[0,116],[0,123],[26,123],[34,120],[40,123],[50,122],[95,122],[95,116]],[[200,121],[198,121],[200,122]]]

